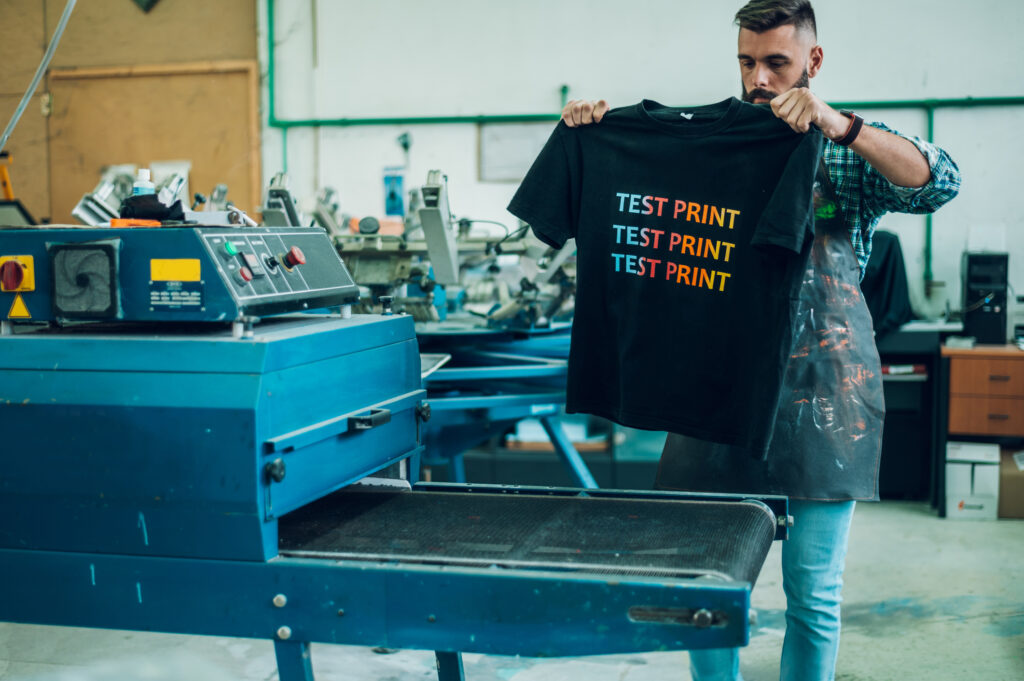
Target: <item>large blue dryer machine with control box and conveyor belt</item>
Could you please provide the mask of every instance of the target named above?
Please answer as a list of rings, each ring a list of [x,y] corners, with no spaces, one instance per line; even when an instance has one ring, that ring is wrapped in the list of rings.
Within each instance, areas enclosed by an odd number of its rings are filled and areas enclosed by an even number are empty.
[[[2,621],[271,639],[284,681],[748,641],[785,499],[417,483],[413,320],[348,314],[319,228],[0,227],[0,284]]]

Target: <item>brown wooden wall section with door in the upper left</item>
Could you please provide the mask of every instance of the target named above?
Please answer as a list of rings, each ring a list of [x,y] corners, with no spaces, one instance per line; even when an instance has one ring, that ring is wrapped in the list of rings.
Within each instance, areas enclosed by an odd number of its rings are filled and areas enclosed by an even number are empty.
[[[66,0],[0,0],[0,126],[32,80],[65,5]],[[229,197],[255,208],[260,184],[255,77],[232,68],[225,89],[224,70],[211,68],[206,75],[157,83],[151,75],[134,87],[131,74],[97,78],[95,69],[249,60],[254,72],[256,49],[255,0],[161,0],[150,12],[131,0],[79,2],[50,74],[8,142],[15,195],[37,219],[72,222],[71,208],[95,186],[102,166],[184,159],[193,161],[196,189],[228,181]],[[53,77],[69,70],[87,75]],[[246,137],[241,142],[234,139],[238,131]]]

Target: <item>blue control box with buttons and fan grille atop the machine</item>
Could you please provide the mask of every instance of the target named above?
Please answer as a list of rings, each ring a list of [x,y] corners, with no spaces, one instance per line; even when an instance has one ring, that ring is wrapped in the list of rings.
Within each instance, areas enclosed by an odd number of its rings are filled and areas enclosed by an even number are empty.
[[[354,302],[319,227],[0,227],[0,320],[231,322]]]

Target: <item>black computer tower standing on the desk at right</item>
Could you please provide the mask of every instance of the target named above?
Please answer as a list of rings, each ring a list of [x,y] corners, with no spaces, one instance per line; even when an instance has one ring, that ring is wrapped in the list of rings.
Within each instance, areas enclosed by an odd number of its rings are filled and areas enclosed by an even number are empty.
[[[978,343],[1007,342],[1007,253],[964,253],[961,261],[964,335]]]

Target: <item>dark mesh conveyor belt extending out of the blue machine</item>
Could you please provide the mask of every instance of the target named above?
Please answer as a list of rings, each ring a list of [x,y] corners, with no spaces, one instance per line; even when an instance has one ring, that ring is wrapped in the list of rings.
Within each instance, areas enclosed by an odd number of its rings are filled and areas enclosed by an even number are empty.
[[[753,502],[343,491],[280,521],[284,555],[757,580]]]

